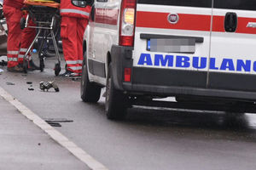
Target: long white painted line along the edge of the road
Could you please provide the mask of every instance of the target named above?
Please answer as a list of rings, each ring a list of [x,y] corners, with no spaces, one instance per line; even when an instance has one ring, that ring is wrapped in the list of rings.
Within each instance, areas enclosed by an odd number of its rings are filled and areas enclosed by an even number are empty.
[[[27,119],[31,120],[34,124],[44,130],[45,133],[48,133],[49,136],[54,139],[57,143],[61,144],[64,148],[69,150],[73,156],[79,158],[80,161],[83,161],[90,169],[92,170],[108,170],[107,167],[104,167],[102,163],[96,161],[92,156],[87,154],[84,150],[79,148],[72,141],[67,139],[59,131],[55,130],[54,127],[49,126],[47,122],[41,119],[38,115],[29,110],[25,105],[22,105],[18,99],[15,99],[11,94],[6,92],[3,88],[0,87],[0,96],[3,99],[9,101],[11,105],[14,105],[15,108],[20,111],[20,113],[26,116]]]

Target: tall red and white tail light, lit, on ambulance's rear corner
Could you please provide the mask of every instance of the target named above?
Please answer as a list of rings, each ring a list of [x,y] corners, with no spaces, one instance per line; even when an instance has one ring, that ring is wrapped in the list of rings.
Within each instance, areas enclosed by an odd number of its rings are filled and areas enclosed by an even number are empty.
[[[119,45],[133,46],[136,0],[123,0],[121,4]]]

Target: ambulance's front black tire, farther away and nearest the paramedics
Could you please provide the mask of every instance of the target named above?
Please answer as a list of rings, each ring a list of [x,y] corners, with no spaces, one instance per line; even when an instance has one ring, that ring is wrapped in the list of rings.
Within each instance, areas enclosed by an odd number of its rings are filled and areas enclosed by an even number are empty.
[[[90,82],[86,65],[86,57],[83,60],[80,94],[84,102],[96,103],[101,97],[102,87]]]

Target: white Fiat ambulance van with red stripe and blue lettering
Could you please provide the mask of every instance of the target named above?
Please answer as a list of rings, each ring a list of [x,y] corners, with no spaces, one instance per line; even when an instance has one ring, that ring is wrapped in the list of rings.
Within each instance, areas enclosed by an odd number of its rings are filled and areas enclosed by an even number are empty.
[[[181,107],[255,111],[256,1],[96,0],[81,98],[97,102],[103,87],[110,119],[168,96]]]

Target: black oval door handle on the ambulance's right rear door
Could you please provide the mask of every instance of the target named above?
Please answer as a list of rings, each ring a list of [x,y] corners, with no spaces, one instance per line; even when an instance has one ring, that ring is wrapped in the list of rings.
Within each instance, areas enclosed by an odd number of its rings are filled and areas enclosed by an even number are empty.
[[[227,13],[224,20],[224,28],[227,32],[235,32],[237,28],[237,14]]]

